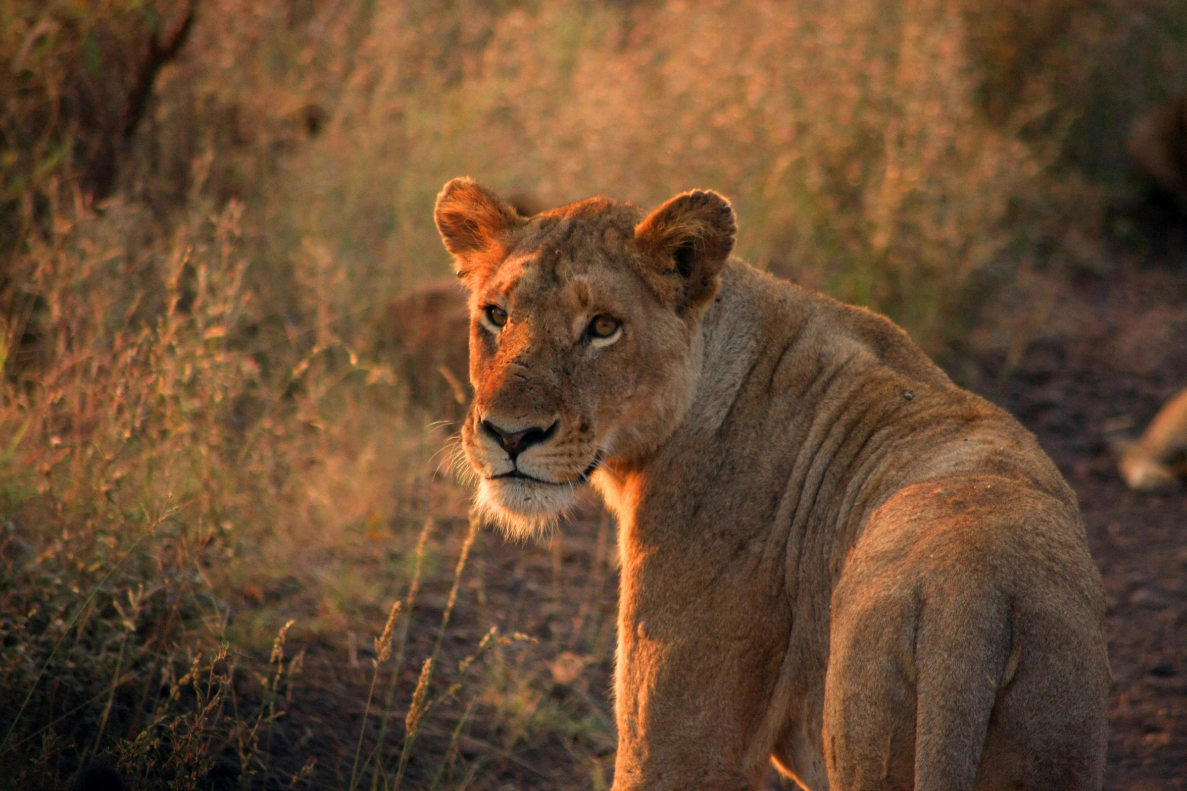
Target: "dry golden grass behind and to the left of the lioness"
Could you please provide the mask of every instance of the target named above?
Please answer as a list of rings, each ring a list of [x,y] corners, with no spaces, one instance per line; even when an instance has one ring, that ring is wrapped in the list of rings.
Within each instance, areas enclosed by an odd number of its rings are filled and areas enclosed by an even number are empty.
[[[475,532],[375,351],[440,184],[711,186],[760,266],[1016,352],[1187,78],[1180,0],[211,0],[125,140],[188,8],[0,0],[0,786],[607,787],[612,525]]]

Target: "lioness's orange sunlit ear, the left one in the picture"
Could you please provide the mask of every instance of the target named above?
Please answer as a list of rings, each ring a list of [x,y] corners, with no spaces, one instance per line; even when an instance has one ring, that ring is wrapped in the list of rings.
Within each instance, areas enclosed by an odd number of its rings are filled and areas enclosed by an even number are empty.
[[[469,178],[445,185],[437,196],[433,219],[463,280],[476,268],[491,266],[496,255],[501,257],[508,232],[526,222],[514,206]]]

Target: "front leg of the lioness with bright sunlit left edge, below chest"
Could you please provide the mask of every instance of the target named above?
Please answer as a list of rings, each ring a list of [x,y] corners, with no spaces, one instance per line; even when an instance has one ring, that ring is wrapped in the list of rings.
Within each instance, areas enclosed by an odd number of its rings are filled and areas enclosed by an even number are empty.
[[[640,576],[624,568],[614,791],[757,787],[787,649],[789,619],[772,617],[782,606],[777,586],[718,580],[698,592],[642,586]]]

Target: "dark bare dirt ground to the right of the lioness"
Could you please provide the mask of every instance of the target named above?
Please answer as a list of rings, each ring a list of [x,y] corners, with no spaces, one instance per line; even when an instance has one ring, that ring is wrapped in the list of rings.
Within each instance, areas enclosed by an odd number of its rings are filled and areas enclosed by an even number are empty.
[[[1109,600],[1105,789],[1118,791],[1187,789],[1187,492],[1130,492],[1110,449],[1187,387],[1187,262],[1157,261],[1134,255],[1072,279],[1073,328],[1034,344],[985,393],[1039,436],[1080,497]]]

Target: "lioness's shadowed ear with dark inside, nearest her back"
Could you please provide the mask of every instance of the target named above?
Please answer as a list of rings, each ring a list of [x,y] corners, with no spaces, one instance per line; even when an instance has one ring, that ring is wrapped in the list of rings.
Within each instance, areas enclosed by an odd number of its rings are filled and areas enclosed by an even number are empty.
[[[730,202],[710,190],[672,198],[635,227],[635,243],[675,288],[677,308],[704,304],[717,294],[718,274],[734,250],[737,223]]]

